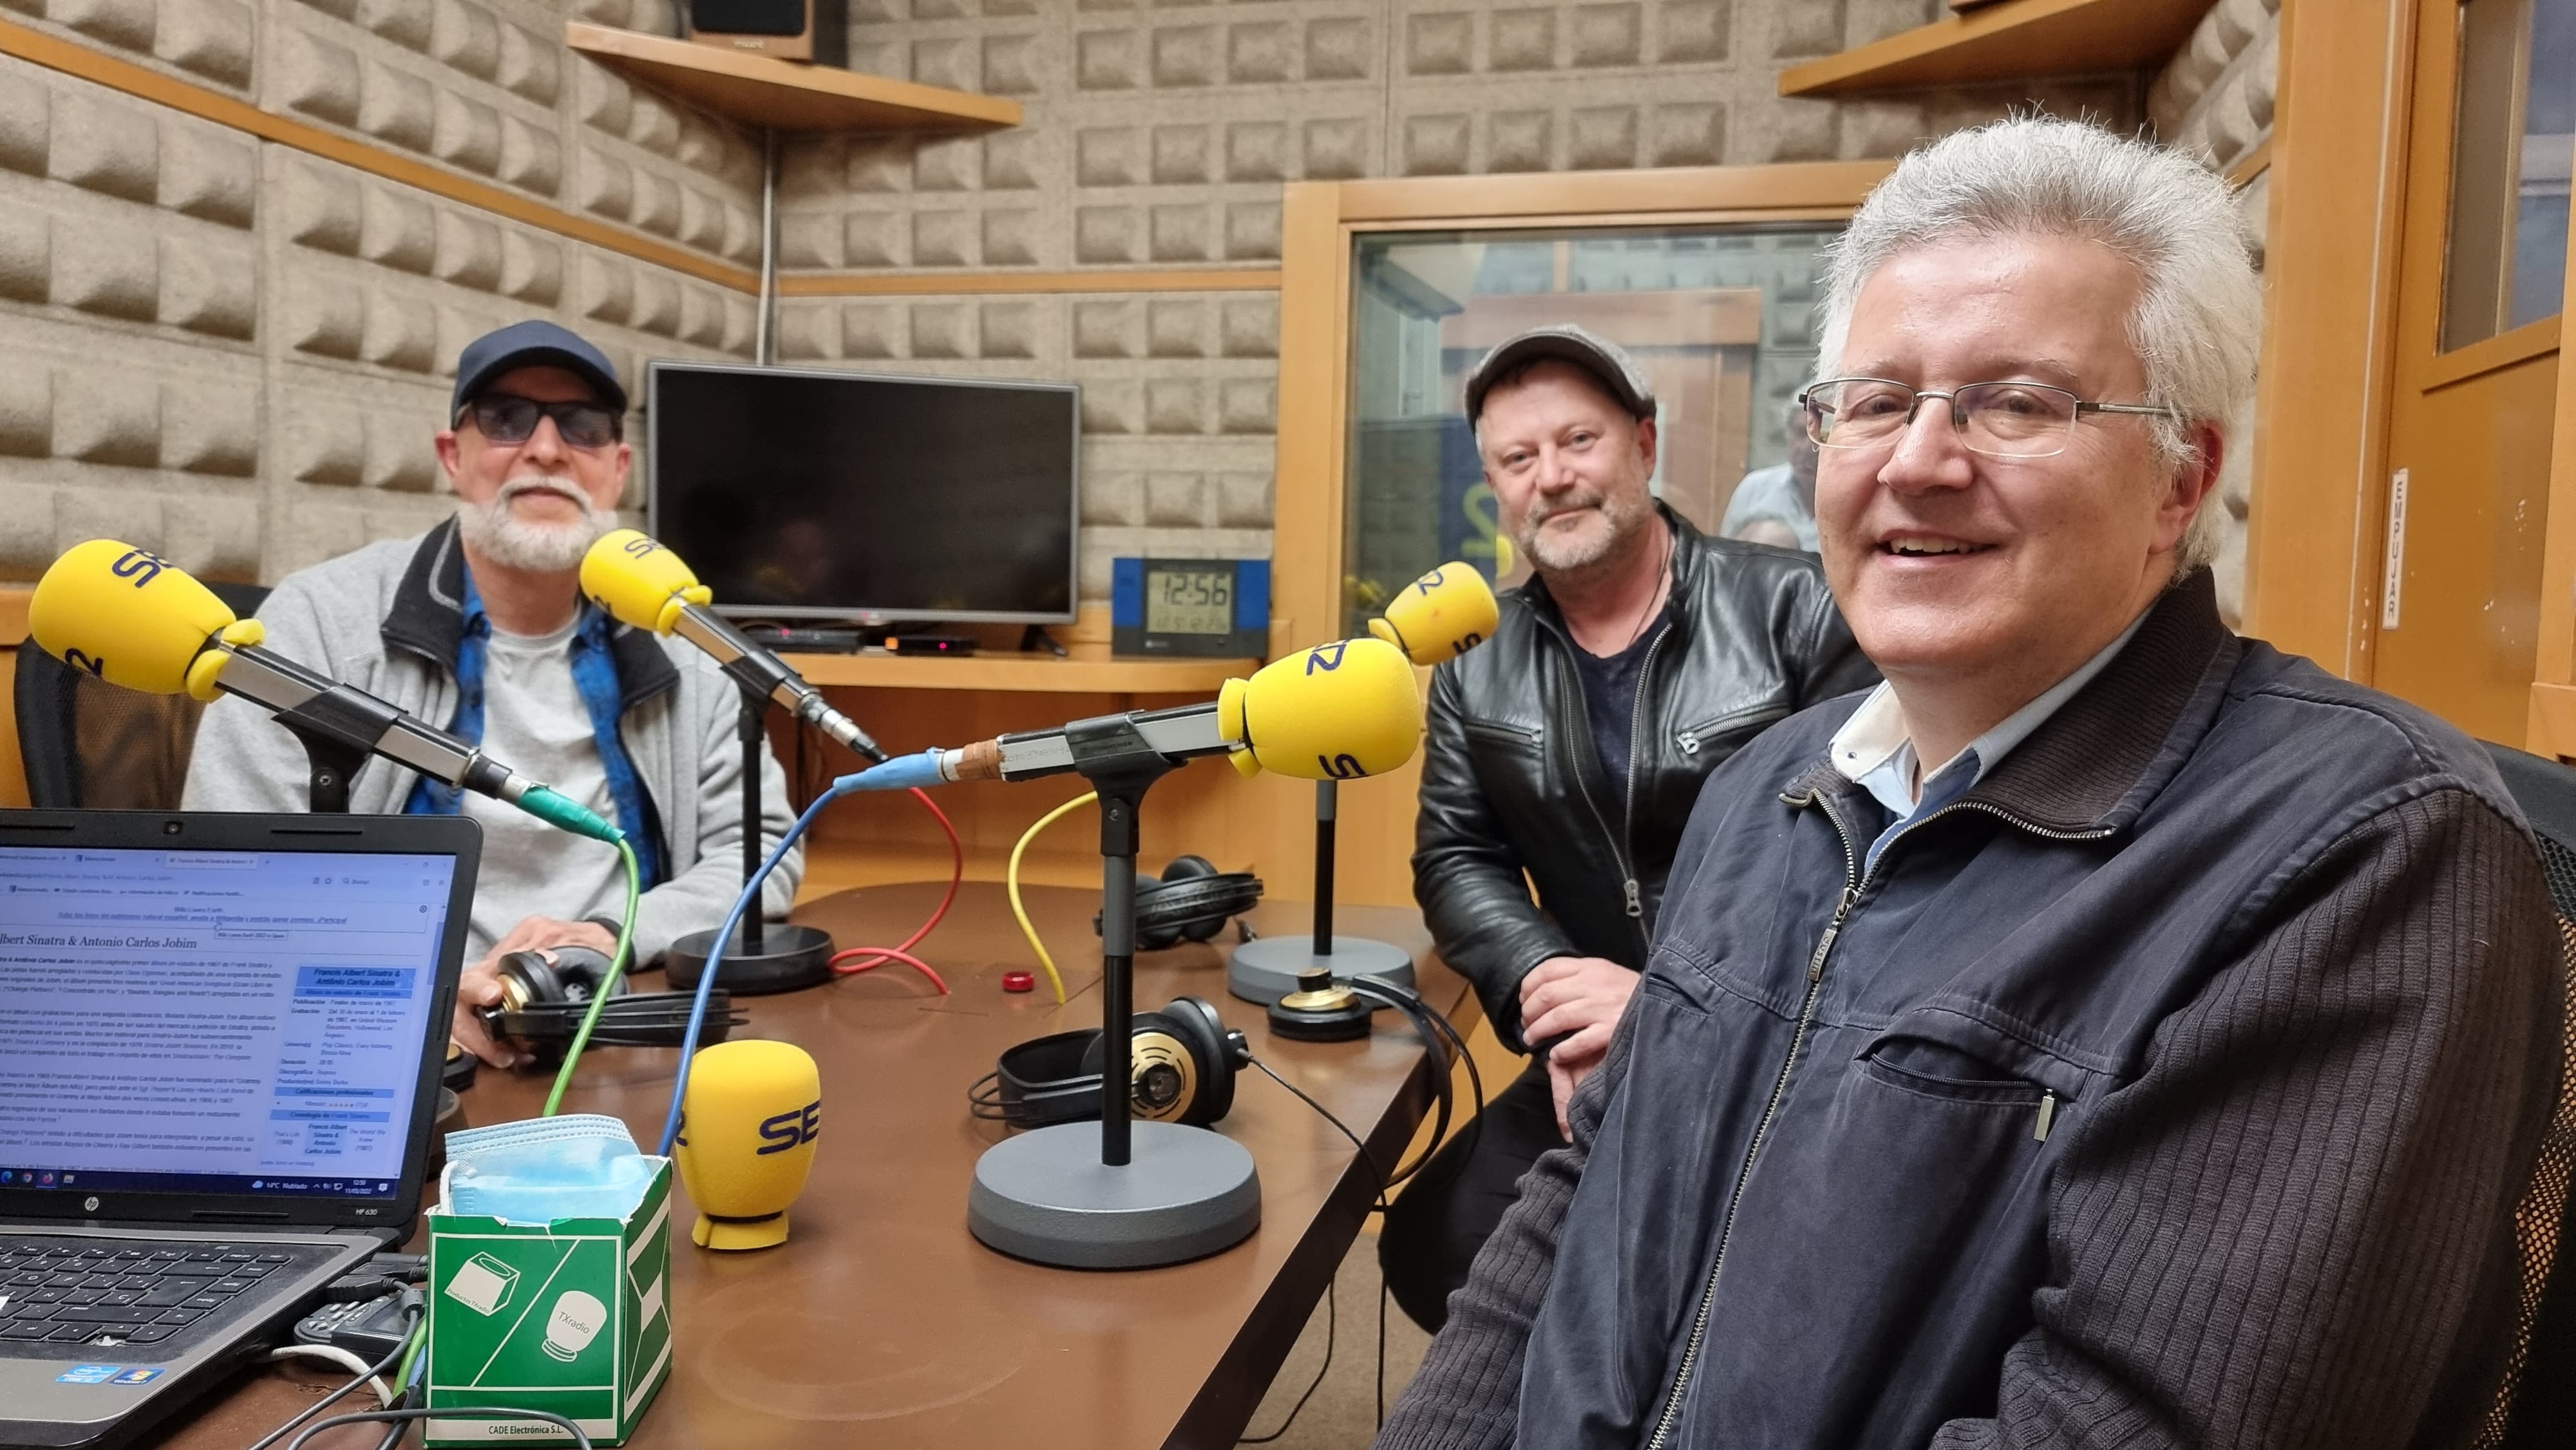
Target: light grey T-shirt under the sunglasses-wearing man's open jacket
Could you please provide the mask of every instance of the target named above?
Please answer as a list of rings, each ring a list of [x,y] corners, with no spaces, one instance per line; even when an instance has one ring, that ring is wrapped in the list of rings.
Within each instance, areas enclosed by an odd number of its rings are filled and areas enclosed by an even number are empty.
[[[600,762],[600,742],[590,734],[582,690],[572,683],[574,626],[580,616],[533,639],[492,631],[484,646],[482,749],[510,770],[616,819],[608,765]],[[484,829],[474,930],[466,937],[469,966],[528,917],[580,922],[623,907],[626,878],[618,855],[600,842],[471,791],[464,796],[464,814]]]

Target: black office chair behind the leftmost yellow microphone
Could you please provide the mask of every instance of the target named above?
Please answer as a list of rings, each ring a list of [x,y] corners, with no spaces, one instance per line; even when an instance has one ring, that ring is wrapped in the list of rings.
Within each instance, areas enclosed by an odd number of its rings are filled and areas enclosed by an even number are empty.
[[[206,585],[237,616],[258,613],[265,585]],[[31,806],[175,811],[188,749],[206,706],[144,695],[18,646],[18,760]]]

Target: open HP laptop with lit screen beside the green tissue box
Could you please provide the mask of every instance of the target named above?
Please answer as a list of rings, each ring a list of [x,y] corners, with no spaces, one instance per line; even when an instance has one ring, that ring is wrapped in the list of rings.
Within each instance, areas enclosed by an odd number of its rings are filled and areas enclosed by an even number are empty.
[[[0,811],[0,1445],[116,1445],[420,1210],[482,832]]]

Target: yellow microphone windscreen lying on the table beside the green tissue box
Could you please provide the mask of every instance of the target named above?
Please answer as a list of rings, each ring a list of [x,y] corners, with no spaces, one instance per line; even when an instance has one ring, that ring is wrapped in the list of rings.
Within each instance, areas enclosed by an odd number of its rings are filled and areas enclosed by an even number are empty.
[[[822,1071],[804,1048],[737,1038],[698,1051],[672,1146],[698,1205],[688,1239],[703,1249],[786,1244],[819,1133]]]

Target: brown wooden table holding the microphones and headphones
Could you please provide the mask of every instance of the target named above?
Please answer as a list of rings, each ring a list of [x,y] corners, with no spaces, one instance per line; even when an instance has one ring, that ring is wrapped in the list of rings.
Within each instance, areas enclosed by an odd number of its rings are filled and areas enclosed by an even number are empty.
[[[999,1125],[966,1115],[966,1084],[994,1053],[1100,1022],[1097,891],[1025,889],[1030,917],[1064,968],[1066,1004],[1038,979],[1005,994],[1005,968],[1030,966],[999,886],[966,883],[925,961],[951,997],[902,966],[814,992],[747,999],[750,1035],[804,1046],[822,1064],[824,1133],[793,1236],[755,1254],[688,1247],[672,1203],[677,1352],[634,1445],[1043,1445],[1048,1450],[1231,1445],[1288,1344],[1360,1231],[1373,1182],[1350,1144],[1257,1071],[1236,1079],[1218,1131],[1252,1149],[1262,1229],[1224,1254],[1136,1272],[1048,1270],[966,1234],[966,1182]],[[899,943],[938,886],[881,886],[796,912],[840,945]],[[1293,932],[1309,907],[1265,901],[1257,930]],[[1409,945],[1425,997],[1455,1012],[1466,984],[1430,958],[1414,912],[1347,907],[1342,925]],[[1231,932],[1229,932],[1231,935]],[[641,986],[657,989],[659,974]],[[1182,945],[1146,956],[1136,1004],[1195,992],[1244,1028],[1252,1051],[1370,1141],[1391,1167],[1430,1102],[1422,1046],[1391,1012],[1365,1043],[1273,1040],[1262,1012],[1226,997],[1224,956]],[[616,1113],[647,1149],[662,1131],[675,1051],[600,1048],[582,1061],[567,1113]],[[484,1071],[466,1115],[533,1115],[546,1082]],[[312,1404],[317,1373],[258,1370],[167,1442],[240,1450]],[[350,1409],[368,1398],[350,1396]],[[314,1445],[374,1445],[366,1427]],[[417,1445],[417,1440],[412,1440]]]

